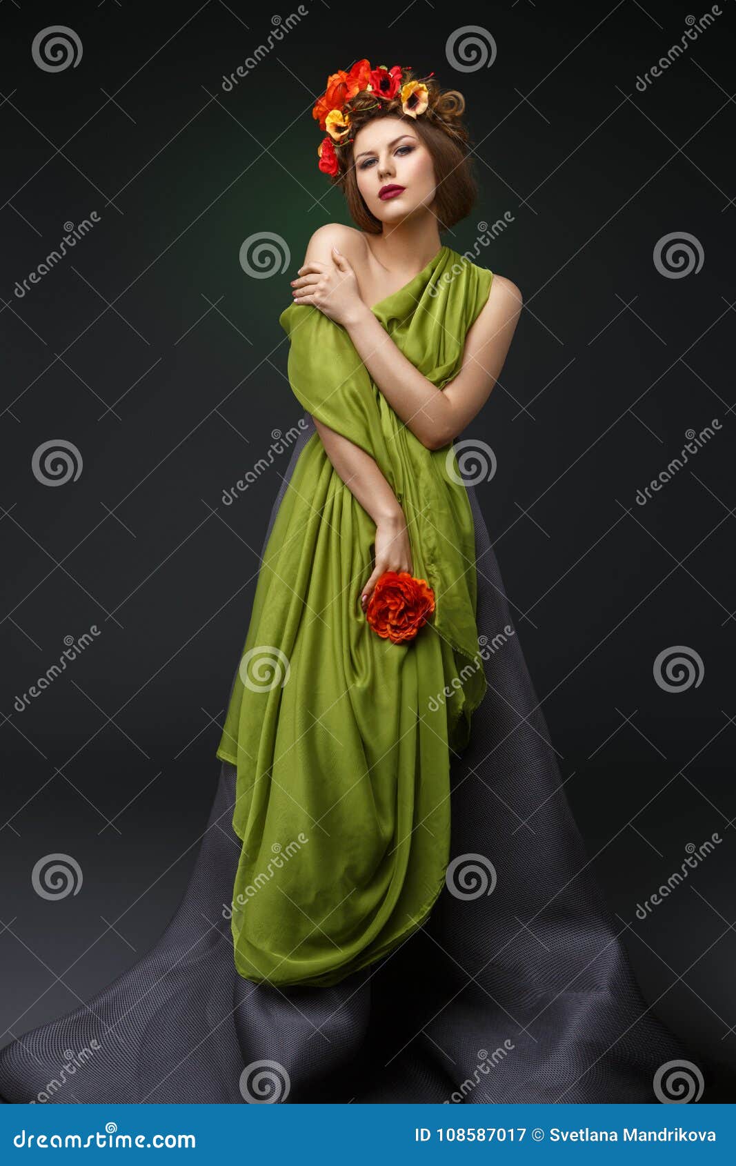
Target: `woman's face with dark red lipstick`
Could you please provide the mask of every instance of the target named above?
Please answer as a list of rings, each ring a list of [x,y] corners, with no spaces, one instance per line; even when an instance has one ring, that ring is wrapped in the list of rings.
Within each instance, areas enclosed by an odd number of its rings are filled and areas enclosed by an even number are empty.
[[[381,223],[400,223],[430,208],[436,190],[432,154],[408,121],[369,121],[356,134],[352,161],[365,205]],[[404,189],[381,198],[385,187]]]

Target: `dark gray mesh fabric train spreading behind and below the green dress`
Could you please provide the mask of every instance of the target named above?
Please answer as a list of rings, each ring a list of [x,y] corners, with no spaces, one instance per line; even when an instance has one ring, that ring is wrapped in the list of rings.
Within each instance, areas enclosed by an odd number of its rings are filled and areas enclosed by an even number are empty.
[[[266,541],[315,431],[309,414],[304,421]],[[50,1102],[657,1101],[657,1069],[687,1051],[643,1000],[586,865],[468,492],[478,633],[495,651],[471,743],[453,759],[453,862],[427,925],[331,988],[281,990],[238,976],[223,905],[240,843],[234,766],[223,763],[195,868],[161,939],[86,1005],[0,1052],[3,1101],[36,1098],[66,1052],[91,1040],[99,1051]],[[527,819],[532,829],[520,826]]]

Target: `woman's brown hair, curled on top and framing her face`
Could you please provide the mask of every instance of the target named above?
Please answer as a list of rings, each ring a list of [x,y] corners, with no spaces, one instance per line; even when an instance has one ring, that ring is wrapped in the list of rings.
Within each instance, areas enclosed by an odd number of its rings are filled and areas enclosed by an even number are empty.
[[[402,78],[402,80],[405,80]],[[408,121],[432,155],[436,180],[434,213],[440,231],[460,223],[472,210],[478,188],[472,173],[469,133],[461,117],[465,99],[457,90],[442,91],[433,77],[423,78],[428,90],[428,105],[415,118],[404,112],[400,94],[391,100],[377,99],[376,93],[362,90],[346,103],[350,113],[350,141],[336,149],[338,173],[331,178],[342,188],[352,220],[370,234],[380,234],[383,223],[365,205],[358,190],[353,161],[355,138],[363,126],[377,118],[397,118]],[[376,104],[378,100],[378,105]]]

